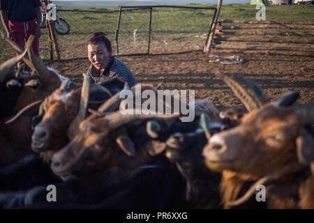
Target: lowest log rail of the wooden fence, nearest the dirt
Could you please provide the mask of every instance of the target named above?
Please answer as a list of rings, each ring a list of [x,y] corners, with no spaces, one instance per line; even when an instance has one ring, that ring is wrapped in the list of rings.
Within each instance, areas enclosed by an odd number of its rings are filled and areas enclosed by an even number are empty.
[[[314,56],[314,52],[295,52],[277,50],[232,50],[220,49],[219,54],[267,54],[267,55],[290,55],[290,56]]]

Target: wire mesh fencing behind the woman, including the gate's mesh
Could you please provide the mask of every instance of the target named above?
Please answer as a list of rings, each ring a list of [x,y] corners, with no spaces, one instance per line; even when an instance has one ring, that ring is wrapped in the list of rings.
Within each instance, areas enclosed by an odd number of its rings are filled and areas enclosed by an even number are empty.
[[[202,49],[207,40],[213,8],[133,8],[121,10],[119,25],[119,55],[167,54]],[[70,26],[66,35],[56,32],[61,59],[87,57],[87,42],[93,33],[103,31],[117,52],[115,31],[119,11],[58,10],[57,17]],[[3,27],[1,29],[4,31]],[[40,58],[50,60],[50,42],[47,28],[41,29]],[[0,63],[15,52],[0,38]]]

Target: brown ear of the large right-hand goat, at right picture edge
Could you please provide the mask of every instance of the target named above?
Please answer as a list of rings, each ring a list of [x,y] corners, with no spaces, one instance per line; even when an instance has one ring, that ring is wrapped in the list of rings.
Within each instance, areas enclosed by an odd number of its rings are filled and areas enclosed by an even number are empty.
[[[314,139],[311,134],[302,129],[301,134],[297,137],[296,144],[299,161],[304,164],[314,162]]]

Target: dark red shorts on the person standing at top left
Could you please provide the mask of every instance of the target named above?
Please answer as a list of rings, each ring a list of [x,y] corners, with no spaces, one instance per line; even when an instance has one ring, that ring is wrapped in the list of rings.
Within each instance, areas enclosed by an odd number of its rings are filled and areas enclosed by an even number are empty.
[[[30,20],[28,22],[19,22],[17,20],[9,20],[9,29],[15,37],[15,43],[23,47],[31,34],[35,35],[36,22]],[[33,45],[31,46],[33,52],[39,56],[39,40],[35,38]]]

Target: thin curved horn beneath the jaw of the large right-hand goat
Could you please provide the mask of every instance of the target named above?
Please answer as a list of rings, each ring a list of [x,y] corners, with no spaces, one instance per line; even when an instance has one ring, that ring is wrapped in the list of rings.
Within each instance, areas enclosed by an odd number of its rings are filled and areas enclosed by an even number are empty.
[[[244,194],[244,196],[240,197],[239,199],[235,201],[229,201],[227,203],[227,206],[239,206],[241,203],[244,203],[245,201],[247,201],[255,193],[257,185],[267,184],[268,185],[267,187],[269,187],[269,185],[271,184],[272,185],[276,184],[276,181],[277,182],[278,180],[280,181],[281,178],[286,178],[287,176],[293,176],[301,171],[304,171],[305,168],[306,166],[304,164],[301,164],[298,161],[292,162],[292,164],[289,164],[283,167],[282,169],[275,171],[273,174],[264,176],[260,178],[259,180],[257,180],[256,183],[254,183],[254,185],[251,186],[250,189],[246,192],[246,194]]]

